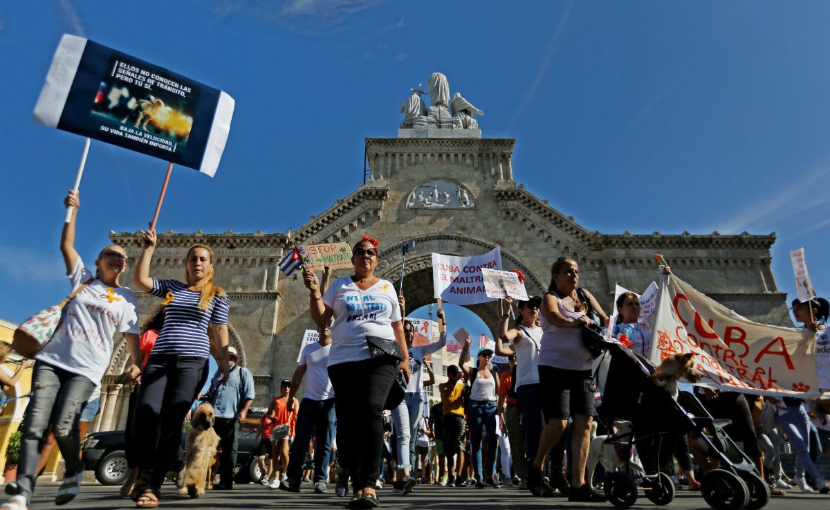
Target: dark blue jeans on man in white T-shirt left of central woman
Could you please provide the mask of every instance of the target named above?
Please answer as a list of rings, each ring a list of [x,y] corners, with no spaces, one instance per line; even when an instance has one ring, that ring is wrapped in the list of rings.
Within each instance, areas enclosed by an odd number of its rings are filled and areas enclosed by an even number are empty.
[[[334,438],[334,399],[303,399],[297,411],[294,443],[288,455],[287,475],[300,482],[305,453],[309,450],[312,433],[316,432],[314,445],[314,483],[325,482],[329,473],[331,441]]]

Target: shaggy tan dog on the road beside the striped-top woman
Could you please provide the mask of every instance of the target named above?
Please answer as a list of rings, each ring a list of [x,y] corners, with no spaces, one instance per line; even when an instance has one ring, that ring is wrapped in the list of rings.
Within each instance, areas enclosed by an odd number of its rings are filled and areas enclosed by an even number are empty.
[[[178,493],[182,496],[189,494],[191,498],[198,498],[205,492],[205,484],[211,476],[210,468],[215,462],[219,446],[219,436],[213,430],[215,419],[213,406],[207,402],[198,405],[193,411],[185,441],[184,468],[178,475],[182,483]]]

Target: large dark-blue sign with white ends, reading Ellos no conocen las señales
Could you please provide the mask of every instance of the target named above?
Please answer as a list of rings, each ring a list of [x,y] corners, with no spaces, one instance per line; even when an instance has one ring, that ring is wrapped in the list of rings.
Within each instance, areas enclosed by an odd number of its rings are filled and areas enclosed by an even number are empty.
[[[225,92],[83,37],[64,35],[34,120],[213,176],[233,107]]]

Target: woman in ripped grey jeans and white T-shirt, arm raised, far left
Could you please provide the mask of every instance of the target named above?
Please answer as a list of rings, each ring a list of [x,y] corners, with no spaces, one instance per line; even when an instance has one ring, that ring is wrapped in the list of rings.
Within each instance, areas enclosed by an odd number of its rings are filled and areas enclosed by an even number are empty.
[[[127,269],[127,255],[120,246],[108,246],[86,267],[75,249],[75,225],[80,207],[76,191],[64,200],[70,219],[61,233],[61,253],[76,296],[66,304],[51,340],[35,356],[32,400],[20,444],[17,467],[17,495],[0,508],[28,508],[37,478],[37,464],[46,429],[51,424],[58,448],[66,460],[66,473],[55,503],[69,503],[81,490],[84,466],[78,418],[81,405],[89,400],[110,365],[114,336],[123,333],[133,363],[127,371],[134,379],[141,370],[138,302],[133,291],[121,287]]]

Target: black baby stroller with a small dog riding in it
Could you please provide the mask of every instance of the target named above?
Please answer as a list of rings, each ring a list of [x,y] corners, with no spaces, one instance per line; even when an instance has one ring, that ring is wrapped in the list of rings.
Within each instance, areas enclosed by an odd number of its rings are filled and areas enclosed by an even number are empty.
[[[769,487],[754,471],[754,465],[723,428],[729,420],[712,419],[694,395],[681,392],[679,401],[648,377],[654,367],[625,347],[609,347],[607,367],[599,380],[604,386],[603,404],[597,409],[599,419],[613,423],[627,419],[632,423],[631,437],[609,438],[609,444],[636,445],[645,476],[641,488],[657,505],[674,499],[671,478],[661,472],[671,459],[681,434],[696,431],[709,446],[709,454],[720,460],[720,469],[713,469],[701,481],[706,503],[715,510],[757,510],[769,501]],[[604,381],[603,381],[604,379]],[[709,436],[704,429],[714,431]],[[637,502],[637,484],[626,466],[623,472],[609,473],[604,483],[605,496],[617,508],[628,508]]]

